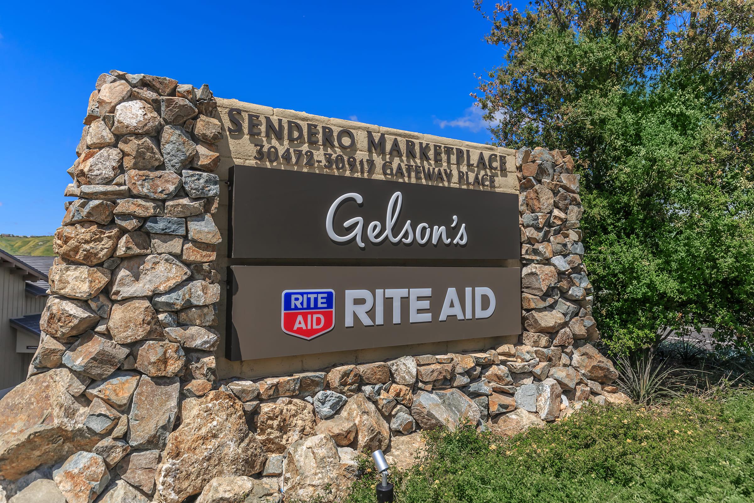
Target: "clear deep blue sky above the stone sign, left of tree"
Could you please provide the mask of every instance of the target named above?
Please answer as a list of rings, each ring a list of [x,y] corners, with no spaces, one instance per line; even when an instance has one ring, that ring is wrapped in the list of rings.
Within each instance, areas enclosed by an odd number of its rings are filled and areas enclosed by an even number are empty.
[[[60,225],[100,73],[206,82],[218,97],[485,143],[469,94],[475,74],[501,64],[489,28],[471,0],[5,2],[0,234]]]

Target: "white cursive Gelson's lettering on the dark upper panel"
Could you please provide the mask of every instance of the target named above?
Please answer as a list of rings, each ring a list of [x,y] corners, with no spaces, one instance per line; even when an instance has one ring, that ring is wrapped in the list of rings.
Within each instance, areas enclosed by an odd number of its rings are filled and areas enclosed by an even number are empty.
[[[347,234],[345,235],[338,234],[333,226],[333,220],[335,219],[336,211],[339,209],[341,204],[349,200],[355,201],[359,206],[361,206],[364,202],[364,198],[361,197],[361,195],[357,192],[348,192],[348,194],[344,194],[339,198],[336,198],[336,200],[333,201],[333,204],[330,205],[329,210],[327,211],[325,228],[327,229],[327,235],[329,236],[329,238],[336,243],[348,243],[351,240],[355,240],[356,244],[358,244],[359,247],[363,249],[365,247],[363,236],[363,217],[354,216],[353,218],[346,220],[343,223],[343,228],[345,232],[347,232]],[[416,230],[414,230],[414,228],[412,228],[411,226],[411,220],[406,220],[406,223],[403,225],[400,233],[396,235],[396,227],[398,217],[400,216],[400,207],[402,204],[403,194],[401,194],[400,192],[395,192],[390,198],[390,202],[388,203],[388,211],[385,216],[384,230],[382,228],[382,223],[377,222],[376,220],[374,222],[370,222],[369,225],[366,226],[366,237],[370,242],[372,242],[373,244],[380,244],[382,243],[382,241],[385,241],[385,238],[388,238],[388,240],[390,240],[390,242],[394,244],[399,242],[403,242],[404,244],[412,244],[414,241],[416,241],[418,244],[427,244],[430,239],[434,246],[437,246],[440,241],[442,241],[445,246],[449,246],[450,244],[453,244],[455,246],[464,246],[464,244],[466,244],[468,239],[466,235],[466,224],[462,223],[459,226],[458,216],[455,215],[453,215],[453,221],[450,224],[450,228],[455,232],[455,238],[453,238],[452,241],[448,236],[448,230],[445,225],[433,225],[430,227],[428,223],[421,222],[416,225]],[[352,225],[354,227],[349,232],[348,228]]]

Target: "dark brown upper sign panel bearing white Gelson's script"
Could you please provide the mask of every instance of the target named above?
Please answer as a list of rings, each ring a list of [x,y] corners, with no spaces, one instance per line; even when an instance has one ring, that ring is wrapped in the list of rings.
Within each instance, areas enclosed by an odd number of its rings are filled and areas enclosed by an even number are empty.
[[[234,259],[520,258],[518,196],[234,167]]]

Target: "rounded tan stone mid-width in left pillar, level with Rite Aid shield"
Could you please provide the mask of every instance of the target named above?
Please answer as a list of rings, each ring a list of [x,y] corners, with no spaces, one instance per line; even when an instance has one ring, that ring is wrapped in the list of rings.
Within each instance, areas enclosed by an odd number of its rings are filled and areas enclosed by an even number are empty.
[[[162,337],[157,311],[144,297],[115,302],[107,327],[112,339],[118,344]]]

